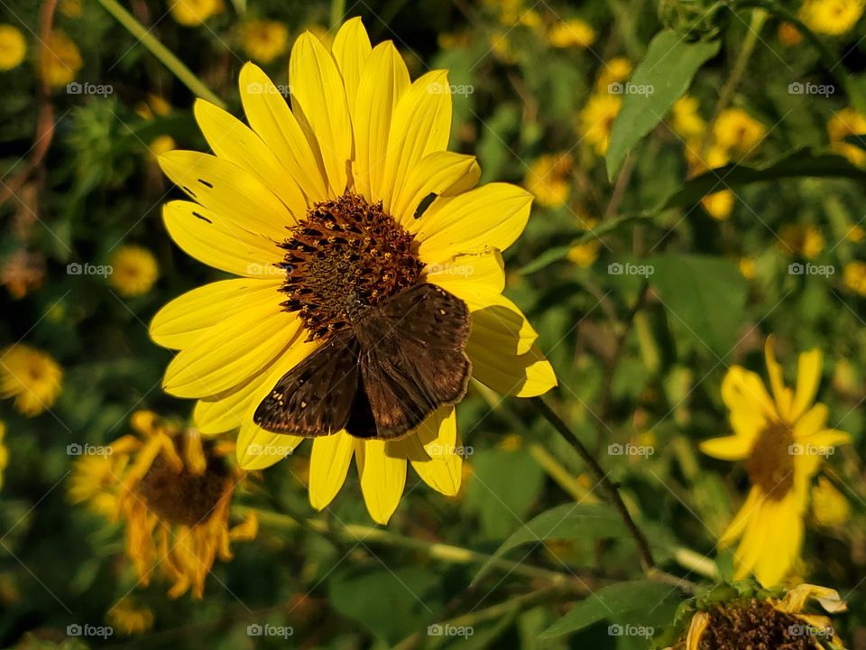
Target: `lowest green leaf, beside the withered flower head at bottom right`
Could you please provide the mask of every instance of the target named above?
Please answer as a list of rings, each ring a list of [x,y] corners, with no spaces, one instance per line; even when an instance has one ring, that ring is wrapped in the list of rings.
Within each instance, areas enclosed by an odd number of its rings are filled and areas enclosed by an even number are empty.
[[[603,620],[630,626],[651,626],[668,615],[668,607],[679,595],[670,585],[650,580],[631,580],[608,585],[587,596],[562,618],[548,627],[540,639],[577,632]],[[662,615],[661,610],[664,611]],[[650,636],[651,636],[650,632]]]

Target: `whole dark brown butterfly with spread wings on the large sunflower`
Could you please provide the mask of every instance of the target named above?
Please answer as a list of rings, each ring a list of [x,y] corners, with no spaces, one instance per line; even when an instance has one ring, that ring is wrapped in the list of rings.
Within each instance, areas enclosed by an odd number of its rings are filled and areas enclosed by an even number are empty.
[[[366,308],[283,375],[253,422],[307,438],[345,429],[357,438],[399,439],[466,394],[469,324],[465,302],[416,284]]]

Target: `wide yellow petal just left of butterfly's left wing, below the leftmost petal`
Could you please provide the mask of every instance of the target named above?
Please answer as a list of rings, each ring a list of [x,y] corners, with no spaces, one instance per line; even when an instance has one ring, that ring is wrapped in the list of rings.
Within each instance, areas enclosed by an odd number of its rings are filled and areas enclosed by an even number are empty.
[[[172,359],[163,389],[177,397],[217,395],[268,367],[303,335],[297,314],[281,311],[279,302],[274,292],[207,330]]]

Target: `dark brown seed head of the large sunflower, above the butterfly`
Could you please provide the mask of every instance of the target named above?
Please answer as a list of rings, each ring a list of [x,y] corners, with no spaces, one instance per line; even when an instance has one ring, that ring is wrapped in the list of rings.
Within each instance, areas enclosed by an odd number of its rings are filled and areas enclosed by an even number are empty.
[[[358,194],[322,201],[290,228],[277,266],[285,311],[299,311],[309,340],[352,327],[367,307],[418,283],[424,268],[409,232]]]

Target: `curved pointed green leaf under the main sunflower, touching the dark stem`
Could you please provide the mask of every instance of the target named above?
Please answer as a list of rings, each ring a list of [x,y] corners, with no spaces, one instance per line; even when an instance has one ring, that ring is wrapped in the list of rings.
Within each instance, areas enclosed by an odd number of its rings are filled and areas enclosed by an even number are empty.
[[[606,504],[563,504],[533,517],[511,534],[484,563],[473,582],[481,580],[495,560],[511,549],[548,539],[610,539],[628,534],[622,519]]]

